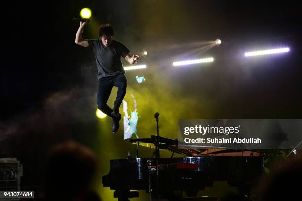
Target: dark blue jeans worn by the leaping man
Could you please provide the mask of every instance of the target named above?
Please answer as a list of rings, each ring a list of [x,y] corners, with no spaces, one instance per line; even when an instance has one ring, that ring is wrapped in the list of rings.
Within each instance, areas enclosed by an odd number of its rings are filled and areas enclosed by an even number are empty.
[[[113,111],[108,105],[107,100],[111,93],[113,86],[117,87],[117,96],[114,102],[113,110],[118,112],[118,108],[121,105],[127,88],[127,79],[124,74],[118,74],[116,76],[102,77],[99,79],[98,93],[97,93],[97,103],[98,108],[103,113],[111,117],[111,112]]]

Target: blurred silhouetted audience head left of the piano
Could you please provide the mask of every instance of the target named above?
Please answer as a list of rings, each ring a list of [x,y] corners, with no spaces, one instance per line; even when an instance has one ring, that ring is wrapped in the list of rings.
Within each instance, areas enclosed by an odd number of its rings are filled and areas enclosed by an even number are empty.
[[[87,147],[68,141],[49,150],[45,194],[47,200],[99,201],[90,190],[97,158]]]

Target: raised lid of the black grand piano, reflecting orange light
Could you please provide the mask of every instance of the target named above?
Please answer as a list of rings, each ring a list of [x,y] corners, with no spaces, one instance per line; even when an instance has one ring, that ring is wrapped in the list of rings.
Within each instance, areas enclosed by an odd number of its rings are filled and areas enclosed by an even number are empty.
[[[159,148],[169,150],[171,152],[183,154],[186,156],[262,156],[263,153],[249,149],[229,149],[225,147],[209,147],[194,145],[188,148],[188,145],[181,146],[177,139],[168,139],[151,135],[150,138],[130,139],[133,144],[145,146],[155,149],[156,140],[158,140]],[[180,145],[180,146],[179,146]]]

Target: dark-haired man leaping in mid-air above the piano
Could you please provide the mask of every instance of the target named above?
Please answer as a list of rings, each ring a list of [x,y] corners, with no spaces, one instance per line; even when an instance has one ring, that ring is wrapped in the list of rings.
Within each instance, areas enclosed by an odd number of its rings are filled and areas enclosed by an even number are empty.
[[[112,117],[112,132],[116,133],[119,128],[121,114],[119,107],[126,94],[127,79],[120,56],[124,57],[130,64],[138,61],[138,55],[129,55],[129,49],[119,41],[113,40],[113,27],[110,24],[101,25],[99,28],[100,39],[87,40],[82,38],[83,30],[87,22],[80,22],[76,33],[76,44],[89,47],[94,51],[98,68],[99,86],[97,91],[98,109]],[[117,87],[117,96],[114,107],[107,105],[113,86]]]

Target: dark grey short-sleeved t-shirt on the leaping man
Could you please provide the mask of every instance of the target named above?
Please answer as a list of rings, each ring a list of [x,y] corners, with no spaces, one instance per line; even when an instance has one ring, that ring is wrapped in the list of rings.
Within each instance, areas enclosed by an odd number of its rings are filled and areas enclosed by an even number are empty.
[[[100,40],[88,40],[88,43],[90,50],[94,51],[98,79],[125,73],[120,56],[126,57],[130,51],[124,44],[116,40],[113,40],[108,47],[105,47]]]

